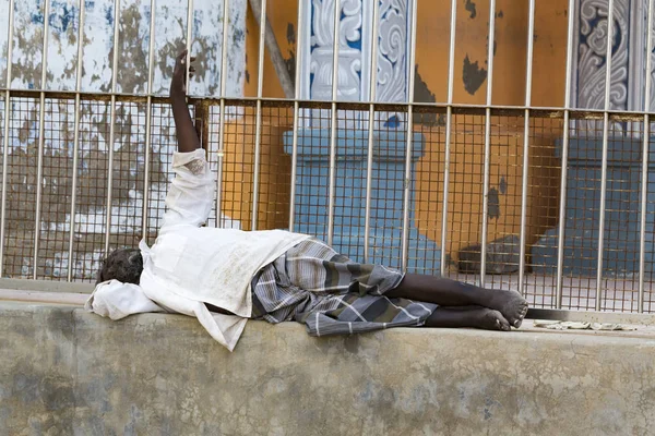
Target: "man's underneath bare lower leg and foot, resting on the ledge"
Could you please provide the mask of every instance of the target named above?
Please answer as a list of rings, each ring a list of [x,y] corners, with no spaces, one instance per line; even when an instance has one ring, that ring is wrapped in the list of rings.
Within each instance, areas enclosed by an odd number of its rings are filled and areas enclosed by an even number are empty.
[[[485,330],[510,331],[510,323],[498,311],[480,306],[438,307],[426,327],[471,327]]]

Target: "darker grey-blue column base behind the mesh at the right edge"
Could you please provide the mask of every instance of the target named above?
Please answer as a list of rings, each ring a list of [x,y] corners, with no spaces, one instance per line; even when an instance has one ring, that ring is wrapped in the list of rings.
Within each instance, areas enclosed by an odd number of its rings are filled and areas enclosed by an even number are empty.
[[[561,142],[557,144],[561,157]],[[641,140],[612,138],[608,143],[607,193],[603,242],[603,274],[639,272],[641,219]],[[655,147],[651,140],[646,202],[646,271],[653,271],[655,231]],[[567,172],[564,274],[595,276],[598,263],[600,138],[572,138]],[[557,272],[558,229],[548,230],[532,250],[537,272]]]

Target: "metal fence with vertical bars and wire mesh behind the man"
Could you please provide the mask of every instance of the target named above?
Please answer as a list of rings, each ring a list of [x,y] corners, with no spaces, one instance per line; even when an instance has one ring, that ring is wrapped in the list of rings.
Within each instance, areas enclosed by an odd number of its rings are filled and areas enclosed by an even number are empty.
[[[223,8],[224,22],[228,3],[216,5]],[[261,23],[271,10],[266,3],[261,1]],[[535,0],[526,16],[523,105],[492,104],[495,44],[487,45],[485,104],[454,102],[455,0],[450,4],[450,29],[443,31],[450,38],[445,101],[414,101],[414,74],[407,76],[408,101],[380,101],[376,86],[360,101],[344,101],[337,68],[344,46],[336,17],[342,3],[348,2],[330,3],[331,98],[324,100],[302,98],[301,50],[293,98],[264,97],[264,78],[274,78],[264,77],[263,49],[258,52],[257,96],[226,97],[228,26],[223,27],[218,97],[189,100],[218,175],[209,226],[313,232],[365,262],[517,289],[534,307],[655,311],[650,98],[643,110],[610,107],[615,26],[607,26],[604,35],[602,109],[570,104],[575,0],[568,5],[563,107],[533,106]],[[370,5],[370,41],[379,39],[382,3]],[[50,0],[43,3],[44,60],[50,4]],[[84,4],[80,3],[80,23]],[[410,7],[406,62],[414,71],[421,4],[405,4]],[[605,4],[607,22],[614,23],[615,1]],[[110,250],[135,245],[142,238],[153,243],[164,211],[176,144],[167,99],[152,88],[154,38],[144,94],[117,92],[119,50],[112,51],[109,90],[82,92],[83,24],[78,26],[74,90],[48,90],[46,61],[40,89],[16,89],[11,87],[14,7],[10,0],[9,62],[0,106],[0,276],[91,281]],[[298,47],[307,44],[302,29],[310,7],[298,3]],[[115,10],[119,9],[120,0],[115,0]],[[648,0],[647,29],[653,28],[653,9]],[[155,0],[151,11],[156,11]],[[188,0],[188,47],[192,11],[193,1]],[[488,40],[495,40],[497,12],[490,0]],[[114,47],[120,47],[119,24],[116,19]],[[260,26],[259,33],[262,48],[270,43],[265,27]],[[151,35],[155,31],[153,12]],[[377,50],[371,43],[372,59]],[[652,32],[644,52],[653,52]],[[651,72],[651,57],[646,58],[645,71]],[[379,69],[370,68],[371,84],[379,82],[377,74]],[[651,92],[652,75],[645,74],[644,95]],[[380,122],[390,114],[393,125]],[[317,120],[323,129],[311,129]],[[600,144],[598,149],[590,137]],[[502,222],[501,207],[511,215]]]

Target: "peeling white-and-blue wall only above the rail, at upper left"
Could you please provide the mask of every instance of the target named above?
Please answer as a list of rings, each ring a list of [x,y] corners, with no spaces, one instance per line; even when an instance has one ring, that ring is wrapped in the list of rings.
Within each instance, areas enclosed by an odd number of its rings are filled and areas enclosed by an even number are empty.
[[[246,0],[230,1],[225,95],[241,96],[246,64]],[[48,17],[47,83],[40,84],[44,0],[14,3],[11,87],[19,89],[74,90],[78,57],[79,1],[51,0]],[[155,63],[153,92],[165,95],[172,73],[172,57],[183,47],[187,26],[186,0],[159,0],[155,13]],[[112,0],[84,3],[83,92],[109,92],[116,13]],[[0,2],[0,80],[7,83],[9,0]],[[150,48],[150,0],[122,1],[119,14],[117,92],[144,94],[147,88]],[[214,96],[219,92],[223,3],[193,2],[192,52],[198,56],[198,74],[190,94]]]

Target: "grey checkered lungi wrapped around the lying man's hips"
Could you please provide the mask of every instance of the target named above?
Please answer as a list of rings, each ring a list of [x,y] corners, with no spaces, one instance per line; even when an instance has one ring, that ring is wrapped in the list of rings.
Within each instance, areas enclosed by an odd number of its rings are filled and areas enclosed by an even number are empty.
[[[252,318],[305,323],[310,336],[422,326],[437,304],[390,299],[404,274],[358,264],[317,239],[266,265],[252,280]]]

